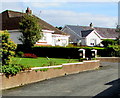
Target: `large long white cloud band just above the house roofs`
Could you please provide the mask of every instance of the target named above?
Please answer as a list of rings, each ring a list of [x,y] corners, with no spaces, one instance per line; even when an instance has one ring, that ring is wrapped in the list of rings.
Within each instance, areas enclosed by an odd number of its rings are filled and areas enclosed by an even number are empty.
[[[93,22],[94,26],[98,27],[115,27],[117,23],[117,17],[64,10],[43,10],[40,17],[54,26],[89,25],[90,22]]]

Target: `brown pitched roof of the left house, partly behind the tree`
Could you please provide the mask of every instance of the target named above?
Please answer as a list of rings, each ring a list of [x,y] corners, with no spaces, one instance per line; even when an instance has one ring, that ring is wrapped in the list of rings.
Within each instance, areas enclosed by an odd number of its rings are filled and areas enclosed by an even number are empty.
[[[16,12],[16,11],[11,11],[11,10],[6,10],[1,13],[2,17],[2,30],[15,30],[19,29],[19,22],[22,19],[22,16],[25,13],[22,12]],[[33,15],[34,17],[38,18],[37,16]],[[65,32],[60,31],[59,29],[53,27],[49,23],[45,22],[44,20],[38,18],[39,24],[42,29],[48,29],[48,30],[53,30],[55,31],[54,33],[56,34],[63,34],[67,35]]]

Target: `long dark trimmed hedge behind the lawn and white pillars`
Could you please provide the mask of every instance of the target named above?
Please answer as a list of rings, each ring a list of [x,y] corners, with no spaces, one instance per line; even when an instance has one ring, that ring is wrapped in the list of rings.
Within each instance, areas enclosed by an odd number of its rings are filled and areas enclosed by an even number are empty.
[[[24,53],[33,53],[38,57],[50,58],[79,58],[79,49],[86,50],[86,57],[91,56],[91,50],[97,49],[98,55],[102,56],[104,48],[101,47],[59,47],[59,46],[35,46],[31,49],[25,49],[22,45],[18,45],[16,52],[23,51]],[[104,53],[103,53],[104,54]]]

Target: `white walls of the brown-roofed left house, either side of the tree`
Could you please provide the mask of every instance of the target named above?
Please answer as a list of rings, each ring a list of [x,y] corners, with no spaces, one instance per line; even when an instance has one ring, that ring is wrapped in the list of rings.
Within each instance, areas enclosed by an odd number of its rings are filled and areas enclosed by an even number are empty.
[[[19,37],[21,36],[21,32],[19,30],[8,30],[10,32],[10,38],[16,44],[22,44],[19,41]],[[60,39],[60,41],[58,41]],[[43,38],[36,42],[36,45],[51,45],[51,46],[67,46],[69,42],[68,35],[54,34],[54,31],[51,30],[43,30]]]

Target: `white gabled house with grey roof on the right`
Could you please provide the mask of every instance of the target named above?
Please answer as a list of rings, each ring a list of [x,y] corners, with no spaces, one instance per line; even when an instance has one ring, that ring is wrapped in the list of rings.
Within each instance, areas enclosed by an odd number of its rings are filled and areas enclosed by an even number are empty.
[[[100,28],[79,25],[66,25],[63,32],[70,34],[70,43],[77,43],[84,46],[103,46],[103,39],[116,39],[119,33],[113,28]]]

